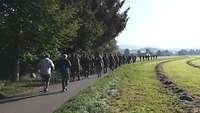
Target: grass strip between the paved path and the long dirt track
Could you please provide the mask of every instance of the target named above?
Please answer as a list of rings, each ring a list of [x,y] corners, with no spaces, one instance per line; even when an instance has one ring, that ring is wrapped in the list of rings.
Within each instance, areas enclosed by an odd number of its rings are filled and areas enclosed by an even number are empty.
[[[55,113],[184,113],[156,79],[158,62],[124,65]]]

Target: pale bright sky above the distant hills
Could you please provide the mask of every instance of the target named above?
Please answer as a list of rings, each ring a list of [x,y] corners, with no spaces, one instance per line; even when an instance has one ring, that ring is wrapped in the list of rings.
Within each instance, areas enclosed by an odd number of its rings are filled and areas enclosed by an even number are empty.
[[[118,45],[200,48],[200,0],[126,0],[129,21]]]

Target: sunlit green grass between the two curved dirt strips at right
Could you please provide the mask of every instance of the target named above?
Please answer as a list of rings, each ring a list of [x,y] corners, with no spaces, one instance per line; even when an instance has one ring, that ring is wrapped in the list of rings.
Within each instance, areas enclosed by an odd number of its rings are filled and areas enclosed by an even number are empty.
[[[180,87],[196,96],[200,96],[200,69],[186,64],[186,61],[191,59],[193,58],[164,64],[164,70],[169,79],[177,83]]]

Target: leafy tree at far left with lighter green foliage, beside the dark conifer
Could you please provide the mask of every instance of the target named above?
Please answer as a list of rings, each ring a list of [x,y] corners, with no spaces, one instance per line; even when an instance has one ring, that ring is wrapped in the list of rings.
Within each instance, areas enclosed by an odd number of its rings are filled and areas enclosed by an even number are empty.
[[[4,74],[19,75],[19,69],[27,70],[44,51],[56,58],[59,49],[77,34],[79,19],[73,16],[73,5],[61,8],[60,0],[1,2],[1,57],[5,64],[11,62],[5,68],[12,70]]]

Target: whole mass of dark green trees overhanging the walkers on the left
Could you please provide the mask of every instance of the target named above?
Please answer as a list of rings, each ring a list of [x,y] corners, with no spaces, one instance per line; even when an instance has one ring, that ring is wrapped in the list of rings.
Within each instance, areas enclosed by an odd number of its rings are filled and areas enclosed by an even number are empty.
[[[0,78],[26,73],[47,52],[112,52],[126,27],[125,0],[1,0]]]

